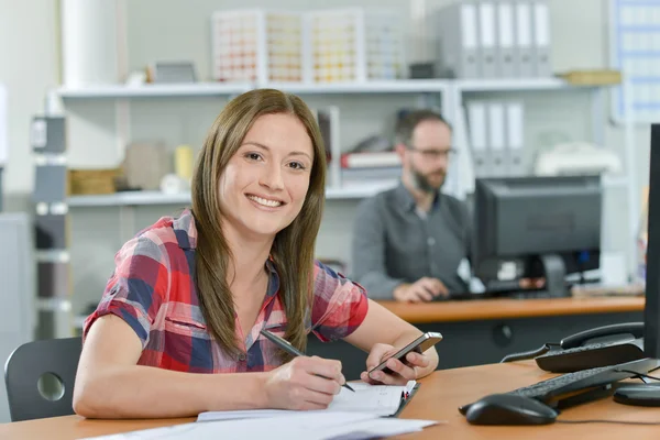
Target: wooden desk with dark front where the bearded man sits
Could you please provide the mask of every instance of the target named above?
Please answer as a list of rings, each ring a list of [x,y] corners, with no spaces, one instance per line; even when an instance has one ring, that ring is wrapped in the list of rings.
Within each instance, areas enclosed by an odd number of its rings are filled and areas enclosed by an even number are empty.
[[[437,345],[439,369],[484,365],[505,355],[535,350],[595,327],[644,320],[644,297],[556,299],[481,299],[383,306],[421,331],[444,337]],[[470,350],[465,350],[470,346]],[[309,338],[308,353],[339,359],[346,378],[360,378],[366,354],[338,341],[321,343]]]

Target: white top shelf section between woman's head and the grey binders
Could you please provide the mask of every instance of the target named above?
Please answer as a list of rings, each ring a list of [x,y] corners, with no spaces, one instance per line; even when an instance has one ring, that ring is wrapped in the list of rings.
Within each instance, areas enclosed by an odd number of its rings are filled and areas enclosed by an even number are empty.
[[[271,82],[264,87],[275,88],[289,94],[420,94],[446,91],[451,81],[443,79],[397,79],[365,82],[321,82],[295,84]]]

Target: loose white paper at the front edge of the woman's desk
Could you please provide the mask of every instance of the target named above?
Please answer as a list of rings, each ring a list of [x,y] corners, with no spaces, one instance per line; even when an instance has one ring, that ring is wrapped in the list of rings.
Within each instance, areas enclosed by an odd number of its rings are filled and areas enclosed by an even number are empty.
[[[95,439],[217,440],[219,438],[267,438],[268,440],[326,440],[341,438],[360,440],[415,432],[433,424],[436,421],[382,419],[370,414],[307,411],[274,418],[186,424],[167,428],[96,437]]]

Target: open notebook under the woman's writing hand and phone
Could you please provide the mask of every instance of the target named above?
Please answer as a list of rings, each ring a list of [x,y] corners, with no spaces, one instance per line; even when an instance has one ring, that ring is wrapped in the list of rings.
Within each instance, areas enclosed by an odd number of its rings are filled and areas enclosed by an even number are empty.
[[[378,417],[397,417],[419,388],[419,384],[415,381],[409,381],[405,386],[370,385],[363,382],[351,383],[351,386],[355,393],[341,388],[323,411],[366,413]],[[299,411],[283,409],[208,411],[201,413],[197,421],[265,418],[295,413]]]

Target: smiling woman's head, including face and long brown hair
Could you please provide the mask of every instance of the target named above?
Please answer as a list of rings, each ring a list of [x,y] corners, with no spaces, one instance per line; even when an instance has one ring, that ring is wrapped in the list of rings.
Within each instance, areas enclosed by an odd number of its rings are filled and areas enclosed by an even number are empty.
[[[200,302],[211,332],[226,350],[238,349],[233,327],[222,324],[233,321],[231,293],[216,276],[218,268],[231,274],[230,279],[235,276],[228,265],[235,249],[228,241],[241,249],[245,249],[243,241],[263,243],[257,253],[270,254],[278,267],[289,318],[286,338],[298,349],[305,348],[302,314],[309,298],[298,293],[306,292],[311,282],[324,185],[321,133],[298,97],[277,90],[245,94],[230,102],[213,123],[194,176],[193,211],[199,234]],[[238,265],[250,265],[256,256],[248,255]],[[249,327],[242,330],[249,330],[254,318],[245,316],[240,323]]]

